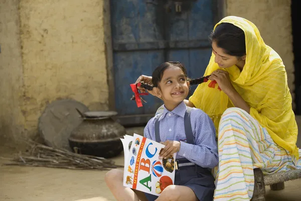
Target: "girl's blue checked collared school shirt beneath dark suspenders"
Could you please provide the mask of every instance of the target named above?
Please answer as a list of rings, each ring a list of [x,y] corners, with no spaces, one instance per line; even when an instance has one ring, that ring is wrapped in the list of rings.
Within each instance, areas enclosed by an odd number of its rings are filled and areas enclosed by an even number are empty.
[[[180,141],[181,146],[177,158],[186,158],[201,167],[214,168],[218,164],[214,124],[202,110],[193,108],[190,118],[195,144],[188,144],[184,127],[186,110],[187,106],[184,101],[171,112],[164,106],[163,114],[159,119],[161,141]],[[156,141],[155,122],[157,116],[150,119],[144,128],[144,137],[154,141]]]

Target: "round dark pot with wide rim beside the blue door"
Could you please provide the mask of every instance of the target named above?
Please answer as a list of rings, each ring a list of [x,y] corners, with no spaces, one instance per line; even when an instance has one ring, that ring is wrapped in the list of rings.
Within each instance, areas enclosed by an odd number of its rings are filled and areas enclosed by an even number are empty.
[[[68,139],[75,153],[109,158],[123,150],[120,138],[126,131],[111,118],[116,112],[78,112],[83,121]]]

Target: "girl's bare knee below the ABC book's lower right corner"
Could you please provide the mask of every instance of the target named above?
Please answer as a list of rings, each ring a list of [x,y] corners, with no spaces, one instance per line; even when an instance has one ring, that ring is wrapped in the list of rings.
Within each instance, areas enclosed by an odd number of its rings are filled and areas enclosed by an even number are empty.
[[[199,200],[194,193],[194,191],[187,187],[181,185],[169,185],[167,186],[156,201],[197,201]]]

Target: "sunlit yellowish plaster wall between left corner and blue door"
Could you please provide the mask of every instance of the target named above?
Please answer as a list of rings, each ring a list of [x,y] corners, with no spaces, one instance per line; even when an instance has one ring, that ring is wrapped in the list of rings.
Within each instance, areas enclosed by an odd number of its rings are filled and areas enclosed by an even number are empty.
[[[102,0],[21,0],[22,112],[29,137],[55,99],[107,110]]]

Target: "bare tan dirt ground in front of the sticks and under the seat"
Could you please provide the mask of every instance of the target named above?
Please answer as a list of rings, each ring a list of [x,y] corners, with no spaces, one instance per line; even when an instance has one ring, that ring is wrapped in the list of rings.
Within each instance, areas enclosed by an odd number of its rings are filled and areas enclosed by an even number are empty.
[[[301,121],[298,122],[301,128]],[[138,130],[139,134],[142,129]],[[301,147],[300,141],[299,138],[298,147]],[[0,147],[0,156],[3,157],[11,156],[15,152],[15,149],[11,147]],[[116,164],[122,165],[123,153],[114,160]],[[0,159],[0,200],[115,200],[105,185],[105,171],[3,166],[4,162],[4,159]],[[301,200],[300,189],[301,179],[285,182],[285,189],[280,191],[271,191],[269,186],[266,186],[266,200]]]

